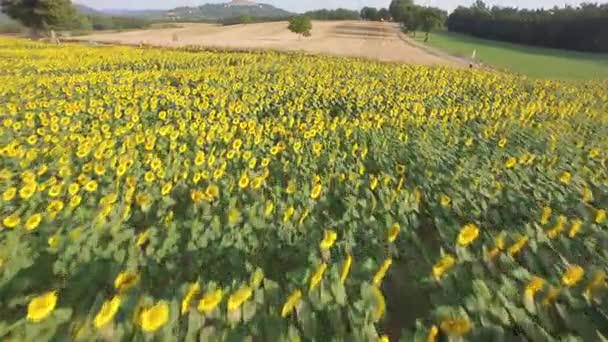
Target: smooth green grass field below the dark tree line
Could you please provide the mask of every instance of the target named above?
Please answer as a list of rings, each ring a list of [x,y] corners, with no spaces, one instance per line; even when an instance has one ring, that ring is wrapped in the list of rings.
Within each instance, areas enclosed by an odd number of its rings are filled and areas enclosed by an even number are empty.
[[[416,40],[422,42],[424,34]],[[449,54],[477,60],[497,69],[534,78],[561,80],[608,79],[608,55],[545,49],[479,39],[463,34],[437,32],[427,43]]]

